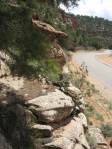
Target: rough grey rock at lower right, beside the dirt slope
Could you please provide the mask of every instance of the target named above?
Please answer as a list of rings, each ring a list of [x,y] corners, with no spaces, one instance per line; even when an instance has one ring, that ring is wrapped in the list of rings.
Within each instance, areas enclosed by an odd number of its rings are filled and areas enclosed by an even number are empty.
[[[107,146],[107,142],[99,128],[96,128],[94,126],[89,126],[88,134],[90,135],[90,137],[95,138],[96,143],[98,145],[103,145],[105,147]]]

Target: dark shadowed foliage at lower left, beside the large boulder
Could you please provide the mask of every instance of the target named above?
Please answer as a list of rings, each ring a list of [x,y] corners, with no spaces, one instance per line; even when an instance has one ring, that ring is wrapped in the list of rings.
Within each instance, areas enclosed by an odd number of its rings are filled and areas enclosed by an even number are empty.
[[[33,149],[33,142],[29,134],[28,126],[25,123],[25,117],[23,118],[21,112],[17,112],[17,108],[18,106],[16,104],[6,106],[0,104],[1,133],[4,134],[13,148]]]

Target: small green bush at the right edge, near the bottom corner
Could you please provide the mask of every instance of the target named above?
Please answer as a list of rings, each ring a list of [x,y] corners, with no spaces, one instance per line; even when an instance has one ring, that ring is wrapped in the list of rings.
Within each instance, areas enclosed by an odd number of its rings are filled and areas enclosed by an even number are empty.
[[[111,125],[102,125],[101,131],[105,137],[112,137],[112,126]]]

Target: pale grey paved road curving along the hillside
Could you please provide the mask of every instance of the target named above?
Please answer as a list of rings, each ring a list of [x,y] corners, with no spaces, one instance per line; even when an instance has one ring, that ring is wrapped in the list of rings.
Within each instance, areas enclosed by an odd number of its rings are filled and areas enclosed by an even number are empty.
[[[108,50],[103,53],[110,53],[110,51]],[[106,88],[112,88],[112,67],[109,67],[96,59],[97,55],[103,53],[81,51],[75,55],[74,59],[79,64],[85,63],[89,74],[95,79],[103,82]]]

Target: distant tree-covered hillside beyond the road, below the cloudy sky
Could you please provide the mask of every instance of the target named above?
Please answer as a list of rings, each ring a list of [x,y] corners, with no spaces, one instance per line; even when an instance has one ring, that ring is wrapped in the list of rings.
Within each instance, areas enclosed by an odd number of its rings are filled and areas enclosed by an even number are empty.
[[[73,14],[70,15],[73,16]],[[111,21],[98,17],[80,15],[75,16],[75,18],[78,23],[78,28],[75,31],[75,42],[78,46],[92,46],[96,49],[111,48]]]

